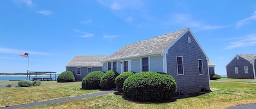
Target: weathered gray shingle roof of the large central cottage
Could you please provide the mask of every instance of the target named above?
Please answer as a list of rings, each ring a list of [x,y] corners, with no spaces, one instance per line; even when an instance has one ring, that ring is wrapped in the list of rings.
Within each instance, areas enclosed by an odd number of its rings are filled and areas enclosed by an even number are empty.
[[[188,31],[189,28],[174,31],[172,33],[153,37],[151,39],[127,44],[123,48],[117,50],[104,61],[117,59],[126,59],[127,57],[136,57],[150,54],[160,54],[170,46],[178,37]]]

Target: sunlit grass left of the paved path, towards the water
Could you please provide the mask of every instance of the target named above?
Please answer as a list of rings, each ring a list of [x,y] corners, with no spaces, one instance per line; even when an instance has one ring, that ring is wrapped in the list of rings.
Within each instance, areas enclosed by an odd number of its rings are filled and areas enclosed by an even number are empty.
[[[80,84],[78,85],[78,83]],[[82,90],[80,88],[81,82],[59,84],[56,81],[46,86],[0,88],[0,107],[75,97],[98,92],[98,90]]]

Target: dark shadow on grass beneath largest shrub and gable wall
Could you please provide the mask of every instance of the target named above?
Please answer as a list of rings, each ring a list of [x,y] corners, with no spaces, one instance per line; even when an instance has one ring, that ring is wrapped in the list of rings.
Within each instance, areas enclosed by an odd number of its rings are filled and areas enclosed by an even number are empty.
[[[203,95],[203,94],[206,94],[206,93],[209,93],[209,92],[211,92],[211,91],[201,91],[201,92],[197,92],[197,93],[180,94],[180,95],[175,95],[175,97],[173,97],[170,100],[163,100],[163,101],[140,101],[140,100],[135,100],[135,99],[131,99],[131,98],[128,98],[128,97],[122,97],[122,98],[124,100],[131,101],[131,102],[138,102],[140,104],[162,104],[162,103],[168,103],[168,102],[175,102],[175,101],[177,101],[177,99],[197,97],[199,95]],[[120,93],[120,92],[115,92],[114,94],[122,96],[122,93]]]

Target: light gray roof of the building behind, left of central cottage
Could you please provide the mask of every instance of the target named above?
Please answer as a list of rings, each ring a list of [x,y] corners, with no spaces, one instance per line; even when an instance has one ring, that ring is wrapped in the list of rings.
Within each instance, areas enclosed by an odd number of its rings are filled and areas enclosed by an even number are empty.
[[[74,56],[66,67],[102,67],[102,62],[108,56]]]

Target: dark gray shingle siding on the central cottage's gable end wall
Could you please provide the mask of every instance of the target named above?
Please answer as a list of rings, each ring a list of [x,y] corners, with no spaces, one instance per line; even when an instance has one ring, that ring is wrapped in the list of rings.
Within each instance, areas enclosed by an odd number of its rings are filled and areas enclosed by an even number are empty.
[[[191,43],[188,43],[191,37]],[[176,56],[183,57],[184,75],[177,75]],[[177,92],[199,92],[201,88],[210,89],[207,58],[193,39],[192,34],[187,32],[178,40],[167,54],[167,72],[177,82]],[[198,59],[203,60],[204,75],[199,75]]]

